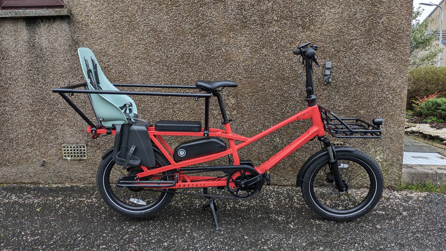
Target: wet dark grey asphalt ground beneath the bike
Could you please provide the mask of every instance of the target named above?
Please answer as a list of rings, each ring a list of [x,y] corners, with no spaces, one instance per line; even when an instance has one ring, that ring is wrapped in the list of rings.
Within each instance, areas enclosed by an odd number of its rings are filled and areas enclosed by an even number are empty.
[[[250,200],[175,195],[151,218],[105,206],[95,186],[0,187],[0,250],[446,250],[446,196],[384,190],[352,222],[318,217],[300,189],[265,186]]]

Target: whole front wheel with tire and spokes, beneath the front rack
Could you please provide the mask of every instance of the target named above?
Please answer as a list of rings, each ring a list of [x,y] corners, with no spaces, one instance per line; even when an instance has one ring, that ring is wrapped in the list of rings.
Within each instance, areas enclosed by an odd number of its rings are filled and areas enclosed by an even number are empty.
[[[339,173],[347,192],[339,192],[329,156],[315,160],[301,183],[302,195],[314,213],[333,221],[354,220],[372,210],[384,189],[383,174],[367,154],[336,152]]]

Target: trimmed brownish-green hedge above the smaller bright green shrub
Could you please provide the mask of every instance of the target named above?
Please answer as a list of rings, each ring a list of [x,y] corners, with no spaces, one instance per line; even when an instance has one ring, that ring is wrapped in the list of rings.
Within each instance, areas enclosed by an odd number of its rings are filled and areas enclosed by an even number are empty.
[[[418,100],[435,92],[446,91],[446,67],[423,66],[409,70],[407,109],[413,109],[411,100]],[[446,94],[443,93],[443,94]]]

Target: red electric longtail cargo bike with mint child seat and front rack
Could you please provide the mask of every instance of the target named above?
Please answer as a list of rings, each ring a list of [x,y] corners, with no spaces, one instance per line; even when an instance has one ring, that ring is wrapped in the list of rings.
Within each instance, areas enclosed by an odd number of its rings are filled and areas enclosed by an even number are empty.
[[[219,229],[215,198],[251,198],[263,185],[270,185],[269,169],[306,142],[317,138],[322,149],[303,163],[296,179],[306,204],[314,213],[334,221],[359,218],[380,200],[384,182],[377,163],[367,154],[351,147],[337,147],[326,133],[341,138],[380,138],[382,119],[367,123],[357,118],[339,118],[318,106],[313,87],[313,63],[318,66],[317,45],[306,43],[293,51],[305,67],[308,107],[251,138],[231,130],[222,90],[237,87],[230,81],[197,81],[195,86],[111,83],[103,74],[95,55],[79,48],[79,58],[87,82],[52,91],[59,93],[90,125],[93,138],[115,135],[114,146],[102,156],[97,172],[97,187],[106,204],[128,217],[147,217],[161,211],[175,193],[184,189],[202,189],[209,199]],[[327,67],[329,66],[329,67]],[[330,64],[326,79],[330,81]],[[119,91],[116,87],[158,87],[201,90],[204,93]],[[84,87],[84,89],[76,89]],[[94,124],[65,95],[85,93],[91,102],[98,124]],[[138,118],[136,104],[128,95],[177,96],[204,99],[204,127],[200,121],[160,120],[154,125]],[[211,97],[219,103],[224,130],[209,127]],[[312,126],[291,144],[260,165],[241,159],[238,150],[297,120],[311,119]],[[165,136],[195,136],[172,148]],[[201,166],[201,163],[228,156],[228,165]],[[231,158],[230,158],[231,157]],[[201,164],[201,165],[198,165]],[[201,176],[201,175],[206,176]],[[212,195],[208,188],[226,189],[229,196]]]

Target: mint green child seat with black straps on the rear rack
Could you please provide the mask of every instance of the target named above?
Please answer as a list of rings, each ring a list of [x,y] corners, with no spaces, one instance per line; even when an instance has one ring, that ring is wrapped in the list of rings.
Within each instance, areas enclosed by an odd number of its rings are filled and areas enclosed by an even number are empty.
[[[105,77],[91,49],[79,48],[78,54],[88,90],[119,91]],[[134,123],[138,116],[135,102],[127,95],[88,94],[88,97],[97,119],[102,120],[106,128]]]

